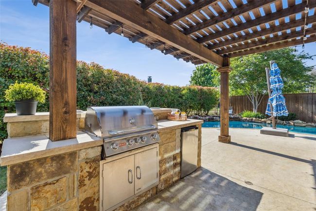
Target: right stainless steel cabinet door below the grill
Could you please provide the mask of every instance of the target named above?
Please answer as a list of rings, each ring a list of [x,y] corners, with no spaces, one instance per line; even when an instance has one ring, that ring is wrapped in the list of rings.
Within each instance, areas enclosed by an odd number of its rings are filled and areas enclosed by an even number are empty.
[[[135,154],[135,194],[158,181],[158,148]]]

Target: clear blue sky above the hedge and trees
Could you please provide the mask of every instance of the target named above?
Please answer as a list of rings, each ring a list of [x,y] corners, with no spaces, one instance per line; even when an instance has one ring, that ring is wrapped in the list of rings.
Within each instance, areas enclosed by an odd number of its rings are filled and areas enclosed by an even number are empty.
[[[0,0],[0,40],[49,54],[49,8],[40,3],[35,7],[31,0]],[[316,43],[306,44],[305,51],[316,55]],[[152,76],[153,82],[179,86],[189,84],[195,69],[182,59],[177,61],[127,38],[108,35],[97,26],[90,29],[84,21],[77,24],[77,59],[94,61],[142,80]],[[316,60],[308,61],[308,65],[316,65]]]

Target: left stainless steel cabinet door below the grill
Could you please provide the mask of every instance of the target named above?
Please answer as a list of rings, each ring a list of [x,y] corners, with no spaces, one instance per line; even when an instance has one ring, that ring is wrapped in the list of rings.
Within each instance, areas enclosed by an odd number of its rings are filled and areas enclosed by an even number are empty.
[[[103,164],[103,210],[134,195],[134,155]]]

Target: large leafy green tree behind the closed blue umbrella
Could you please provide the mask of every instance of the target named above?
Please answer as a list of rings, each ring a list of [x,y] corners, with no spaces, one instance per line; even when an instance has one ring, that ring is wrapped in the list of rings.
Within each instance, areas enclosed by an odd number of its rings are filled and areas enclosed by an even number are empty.
[[[306,92],[312,82],[308,74],[312,67],[305,66],[306,59],[312,59],[312,56],[305,52],[298,53],[294,48],[232,58],[230,95],[248,96],[256,113],[263,95],[267,93],[265,67],[270,67],[270,60],[275,60],[281,69],[283,93]]]

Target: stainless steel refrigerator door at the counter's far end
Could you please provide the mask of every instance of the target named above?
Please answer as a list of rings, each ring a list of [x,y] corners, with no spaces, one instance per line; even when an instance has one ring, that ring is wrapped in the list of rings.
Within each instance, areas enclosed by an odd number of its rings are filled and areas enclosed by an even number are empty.
[[[181,132],[181,178],[197,168],[198,130]]]

